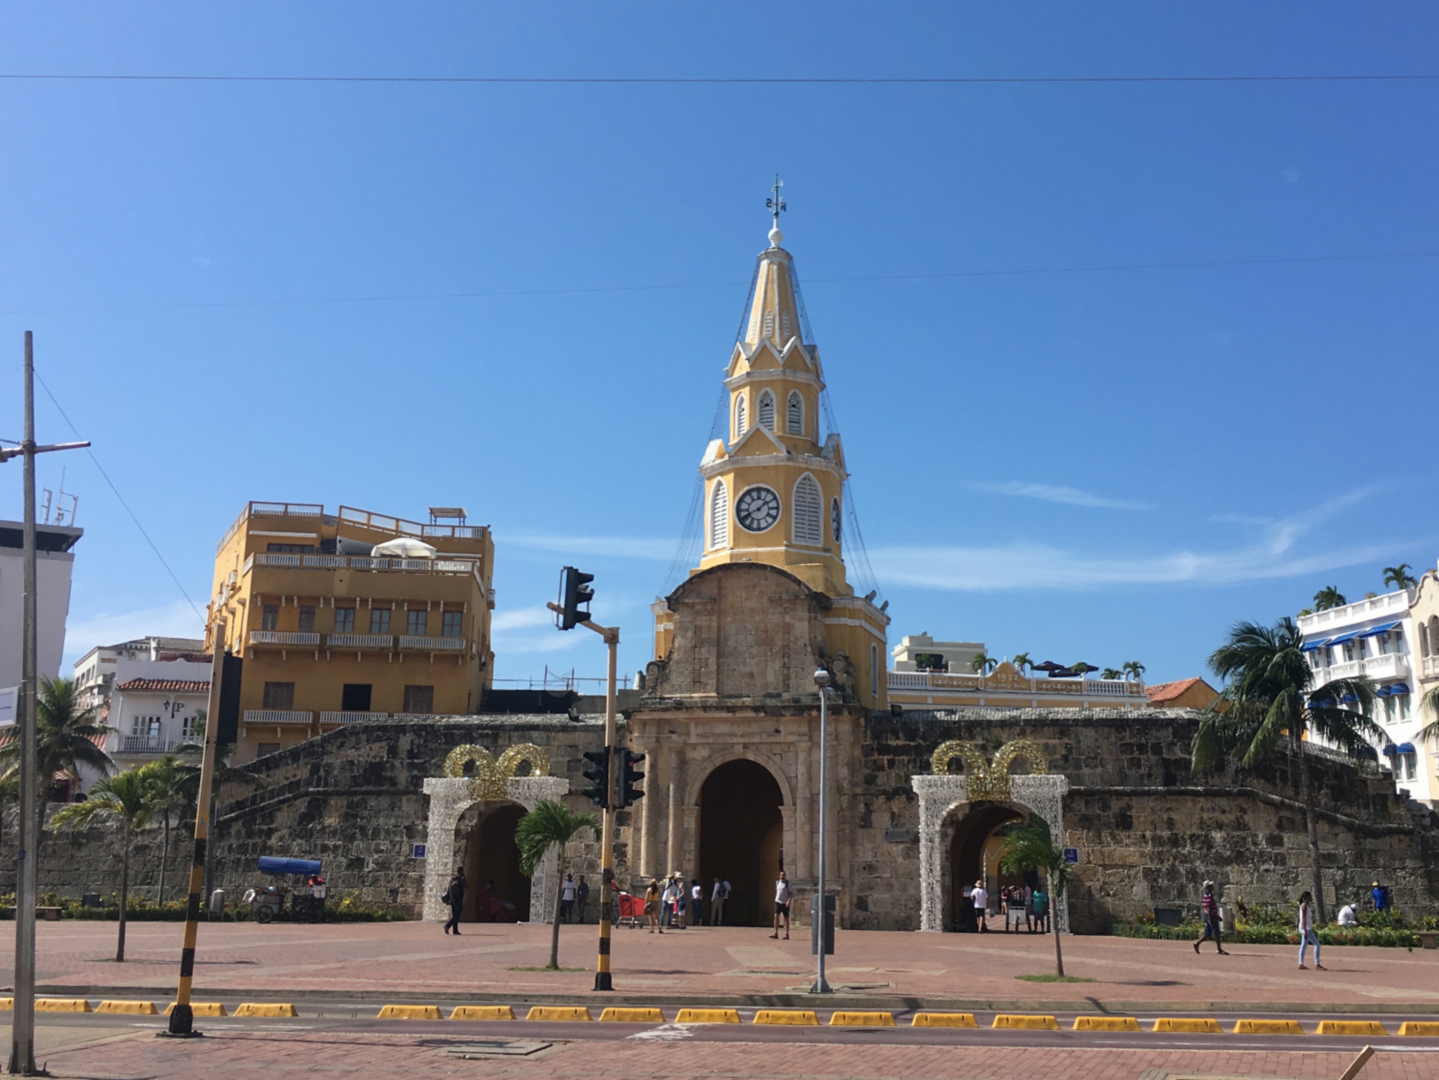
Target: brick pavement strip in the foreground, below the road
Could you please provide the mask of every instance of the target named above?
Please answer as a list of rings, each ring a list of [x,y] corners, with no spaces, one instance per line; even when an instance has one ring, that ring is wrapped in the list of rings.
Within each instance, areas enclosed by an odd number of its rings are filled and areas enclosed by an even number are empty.
[[[629,1038],[555,1041],[530,1057],[463,1060],[450,1051],[465,1038],[429,1032],[223,1032],[201,1040],[161,1040],[151,1032],[47,1045],[39,1058],[56,1077],[194,1080],[216,1077],[485,1076],[548,1080],[599,1077],[778,1077],[783,1080],[1163,1080],[1170,1074],[1314,1077],[1334,1080],[1354,1051],[1288,1050],[1068,1050],[1022,1047],[753,1044]],[[9,1043],[9,1031],[4,1032]],[[473,1043],[473,1037],[468,1041]],[[1361,1080],[1433,1080],[1439,1054],[1380,1050]]]

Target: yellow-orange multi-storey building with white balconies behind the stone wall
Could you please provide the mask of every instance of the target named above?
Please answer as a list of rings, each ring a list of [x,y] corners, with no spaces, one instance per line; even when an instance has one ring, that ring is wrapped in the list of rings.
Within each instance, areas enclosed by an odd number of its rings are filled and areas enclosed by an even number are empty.
[[[220,540],[206,648],[245,657],[246,762],[344,723],[472,713],[491,685],[495,544],[465,511],[430,523],[250,503]]]

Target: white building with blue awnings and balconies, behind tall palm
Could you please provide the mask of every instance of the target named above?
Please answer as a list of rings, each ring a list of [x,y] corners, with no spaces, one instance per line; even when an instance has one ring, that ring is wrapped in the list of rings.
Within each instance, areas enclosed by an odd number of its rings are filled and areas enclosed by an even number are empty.
[[[1425,720],[1419,714],[1415,671],[1415,629],[1409,608],[1413,592],[1400,589],[1367,596],[1343,608],[1301,615],[1304,651],[1317,685],[1335,678],[1368,675],[1379,698],[1374,721],[1384,740],[1374,749],[1394,770],[1394,783],[1410,796],[1439,799],[1433,747],[1417,739]]]

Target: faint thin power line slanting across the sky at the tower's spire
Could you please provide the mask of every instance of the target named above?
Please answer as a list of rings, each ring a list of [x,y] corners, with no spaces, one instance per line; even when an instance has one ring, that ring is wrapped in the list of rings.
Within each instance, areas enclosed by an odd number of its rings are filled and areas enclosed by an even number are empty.
[[[1012,278],[1040,274],[1117,274],[1122,271],[1216,269],[1225,266],[1285,266],[1321,262],[1364,262],[1376,259],[1433,259],[1439,251],[1373,252],[1367,255],[1295,255],[1272,259],[1196,259],[1190,262],[1114,262],[1088,266],[1019,266],[1010,269],[944,271],[940,274],[879,274],[856,278],[806,278],[806,285],[843,285],[869,281],[944,281],[954,278]],[[0,315],[79,315],[108,311],[187,311],[197,308],[299,307],[305,304],[390,304],[413,300],[499,300],[507,297],[568,297],[602,292],[661,292],[675,289],[741,288],[744,281],[709,281],[688,285],[596,285],[561,289],[492,289],[475,292],[396,292],[368,297],[309,297],[301,300],[216,300],[187,304],[137,304],[91,308],[26,308]]]

